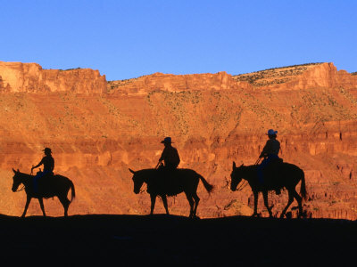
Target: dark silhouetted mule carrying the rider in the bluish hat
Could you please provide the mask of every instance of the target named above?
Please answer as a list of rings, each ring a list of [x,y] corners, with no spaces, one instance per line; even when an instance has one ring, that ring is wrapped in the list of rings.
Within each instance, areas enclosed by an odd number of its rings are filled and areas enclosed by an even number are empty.
[[[271,207],[268,205],[268,191],[286,188],[288,191],[288,202],[283,212],[280,214],[280,218],[283,218],[286,214],[288,207],[293,203],[294,198],[296,199],[299,206],[299,214],[301,217],[303,215],[303,199],[306,199],[306,187],[305,187],[305,174],[303,170],[298,166],[289,163],[281,163],[278,168],[277,175],[275,178],[275,183],[272,184],[271,180],[266,180],[267,182],[261,183],[259,182],[257,175],[257,165],[252,166],[244,166],[243,164],[239,167],[236,166],[236,163],[233,162],[233,170],[230,174],[231,182],[230,182],[230,190],[237,190],[237,185],[242,179],[245,179],[254,195],[254,213],[253,216],[258,215],[257,213],[257,204],[258,204],[258,194],[262,192],[262,196],[264,198],[264,205],[267,207],[270,217],[272,216]],[[296,192],[295,187],[301,181],[300,194]]]

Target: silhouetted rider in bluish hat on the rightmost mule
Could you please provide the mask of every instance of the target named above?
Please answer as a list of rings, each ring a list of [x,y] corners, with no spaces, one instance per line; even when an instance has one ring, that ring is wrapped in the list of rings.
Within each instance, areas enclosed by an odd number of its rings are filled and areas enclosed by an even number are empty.
[[[278,131],[274,131],[270,129],[268,131],[269,140],[266,142],[264,148],[262,149],[262,153],[259,158],[264,158],[260,166],[258,166],[258,178],[259,182],[263,183],[263,170],[270,165],[272,161],[278,159],[278,152],[280,150],[280,142],[277,140]],[[276,190],[277,194],[279,194],[279,190]]]

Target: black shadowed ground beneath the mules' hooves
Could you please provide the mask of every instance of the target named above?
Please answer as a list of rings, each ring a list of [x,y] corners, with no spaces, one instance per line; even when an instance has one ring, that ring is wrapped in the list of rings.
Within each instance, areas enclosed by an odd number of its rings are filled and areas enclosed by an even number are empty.
[[[356,266],[357,222],[0,215],[3,266]]]

